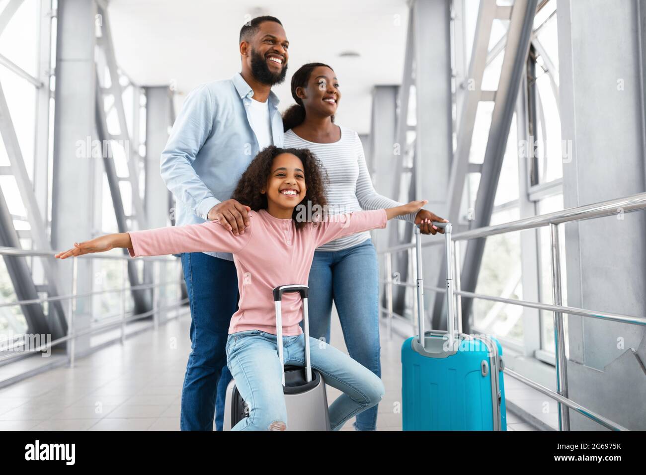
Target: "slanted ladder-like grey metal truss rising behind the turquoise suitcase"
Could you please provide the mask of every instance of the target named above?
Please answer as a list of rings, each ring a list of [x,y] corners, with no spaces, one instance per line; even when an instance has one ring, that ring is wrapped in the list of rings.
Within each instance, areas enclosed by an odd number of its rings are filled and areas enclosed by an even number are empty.
[[[458,227],[458,230],[465,227],[473,229],[488,226],[490,223],[509,129],[516,107],[518,91],[523,81],[537,6],[538,0],[516,0],[511,7],[496,5],[495,0],[482,0],[480,3],[468,74],[469,84],[466,88],[467,92],[457,130],[457,148],[449,180],[448,218],[454,223],[454,226]],[[509,27],[504,47],[503,45],[495,45],[489,52],[488,43],[494,19],[508,19]],[[488,61],[492,61],[503,50],[505,56],[498,89],[495,91],[482,90],[483,74]],[[487,54],[483,54],[483,52],[487,52]],[[469,154],[475,126],[475,114],[480,101],[494,101],[494,112],[492,113],[483,164],[480,167],[471,168]],[[464,226],[461,215],[462,199],[465,181],[470,171],[480,173],[481,176],[473,219],[468,221],[468,226]],[[484,248],[485,240],[477,239],[470,242],[466,249],[461,272],[462,287],[465,291],[475,291]],[[444,278],[444,275],[439,276],[438,286],[441,286]],[[470,331],[469,315],[473,301],[466,298],[462,300],[463,329],[468,333]],[[441,328],[443,313],[444,298],[438,295],[433,307],[433,328]]]

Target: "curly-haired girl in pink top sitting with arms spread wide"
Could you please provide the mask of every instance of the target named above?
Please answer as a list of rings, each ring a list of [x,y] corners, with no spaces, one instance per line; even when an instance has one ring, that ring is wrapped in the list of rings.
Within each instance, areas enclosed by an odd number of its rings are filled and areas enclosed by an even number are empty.
[[[233,253],[240,291],[239,308],[231,317],[227,339],[227,367],[249,405],[233,430],[289,428],[277,354],[275,304],[272,290],[284,284],[307,284],[314,249],[333,239],[386,227],[395,216],[415,213],[424,202],[413,201],[388,209],[360,211],[321,220],[307,209],[326,205],[323,177],[317,158],[306,149],[267,147],[240,178],[233,198],[248,204],[249,225],[234,235],[218,220],[129,231],[74,243],[59,259],[127,248],[130,256],[220,251]],[[305,205],[305,206],[298,206]],[[299,322],[300,296],[282,300],[284,363],[305,366],[304,335]],[[379,403],[384,385],[377,375],[329,344],[311,338],[311,366],[326,384],[343,392],[330,406],[332,430]]]

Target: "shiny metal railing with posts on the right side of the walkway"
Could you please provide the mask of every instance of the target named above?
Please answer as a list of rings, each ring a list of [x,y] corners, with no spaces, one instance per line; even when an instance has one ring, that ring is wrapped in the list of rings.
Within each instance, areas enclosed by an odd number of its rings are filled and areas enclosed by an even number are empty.
[[[565,224],[568,222],[575,222],[581,220],[588,220],[592,218],[600,218],[604,216],[618,215],[621,213],[630,213],[632,211],[640,211],[646,209],[646,193],[638,193],[636,195],[626,196],[624,198],[616,198],[614,200],[607,200],[604,202],[598,202],[594,204],[589,204],[585,206],[572,207],[564,209],[563,211],[555,211],[554,213],[547,213],[545,215],[532,216],[530,218],[523,218],[520,220],[507,222],[503,224],[497,224],[495,226],[481,227],[478,229],[470,229],[468,231],[463,231],[461,233],[453,234],[453,249],[449,249],[449,252],[455,255],[455,269],[453,273],[455,274],[455,299],[457,302],[457,317],[458,323],[461,323],[461,306],[459,299],[462,297],[470,297],[474,299],[485,299],[490,301],[504,302],[512,305],[525,306],[529,308],[537,308],[540,310],[548,310],[554,312],[554,359],[556,362],[556,392],[552,392],[547,388],[541,386],[540,388],[537,383],[531,381],[530,379],[521,376],[511,370],[505,368],[505,372],[511,375],[512,377],[518,379],[519,381],[536,388],[537,390],[548,394],[558,401],[559,406],[559,430],[570,430],[570,415],[568,408],[572,408],[583,414],[583,416],[589,417],[593,421],[598,422],[601,425],[604,425],[607,428],[614,430],[626,430],[625,427],[609,421],[605,417],[599,416],[587,408],[579,405],[575,401],[568,399],[568,380],[567,380],[567,366],[565,364],[565,331],[563,329],[563,314],[569,315],[580,315],[582,317],[592,317],[603,319],[606,321],[616,321],[621,323],[629,323],[636,325],[645,325],[646,319],[642,317],[635,317],[632,315],[621,315],[618,313],[610,313],[605,311],[592,311],[583,308],[576,308],[570,306],[562,305],[562,282],[561,282],[561,251],[559,245],[559,225]],[[524,231],[526,229],[534,229],[537,227],[548,226],[550,227],[550,266],[552,268],[552,292],[554,297],[554,304],[543,304],[541,302],[529,302],[522,301],[518,299],[504,299],[502,297],[493,297],[490,295],[481,295],[474,292],[463,291],[460,289],[459,277],[461,265],[459,262],[460,253],[457,251],[457,244],[461,240],[470,240],[476,238],[485,238],[489,236],[494,236],[503,233],[509,233],[512,231]],[[431,245],[440,245],[442,244],[439,241],[426,242],[422,246],[431,246]],[[378,251],[378,254],[383,254],[386,259],[386,270],[388,279],[382,280],[386,282],[387,285],[387,301],[388,307],[386,311],[388,312],[389,322],[388,328],[389,332],[392,330],[391,319],[393,317],[392,311],[392,286],[393,285],[402,285],[402,286],[415,286],[410,282],[394,282],[391,272],[391,254],[399,251],[412,251],[415,244],[399,244],[397,246],[392,246],[390,248],[383,249]],[[425,289],[432,291],[444,291],[444,289],[426,287]],[[413,301],[413,306],[415,302]]]

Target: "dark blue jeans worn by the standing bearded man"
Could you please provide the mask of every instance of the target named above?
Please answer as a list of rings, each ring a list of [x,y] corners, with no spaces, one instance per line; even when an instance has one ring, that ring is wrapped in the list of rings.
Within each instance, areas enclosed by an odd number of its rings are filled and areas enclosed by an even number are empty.
[[[181,430],[216,430],[224,425],[224,399],[231,373],[226,344],[238,310],[238,276],[231,260],[183,253],[182,268],[191,302],[191,355],[182,388]]]

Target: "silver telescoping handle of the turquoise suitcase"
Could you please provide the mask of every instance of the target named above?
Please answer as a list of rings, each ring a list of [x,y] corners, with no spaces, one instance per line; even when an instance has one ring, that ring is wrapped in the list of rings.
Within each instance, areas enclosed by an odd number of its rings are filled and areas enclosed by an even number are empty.
[[[444,242],[446,243],[446,321],[448,326],[448,344],[453,348],[455,339],[455,312],[453,310],[453,255],[451,247],[451,223],[433,222],[437,227],[444,229]],[[424,282],[422,279],[422,240],[419,224],[415,225],[415,255],[417,257],[417,326],[419,328],[419,344],[424,348]]]

